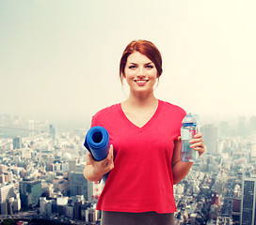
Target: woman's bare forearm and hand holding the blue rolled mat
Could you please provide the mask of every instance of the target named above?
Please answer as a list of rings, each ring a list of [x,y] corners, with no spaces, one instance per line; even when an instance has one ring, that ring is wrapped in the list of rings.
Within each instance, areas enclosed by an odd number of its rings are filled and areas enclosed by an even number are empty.
[[[87,164],[84,170],[84,176],[88,181],[100,181],[105,173],[108,173],[114,168],[113,161],[113,145],[110,145],[109,152],[106,158],[102,161],[96,161],[88,153]]]

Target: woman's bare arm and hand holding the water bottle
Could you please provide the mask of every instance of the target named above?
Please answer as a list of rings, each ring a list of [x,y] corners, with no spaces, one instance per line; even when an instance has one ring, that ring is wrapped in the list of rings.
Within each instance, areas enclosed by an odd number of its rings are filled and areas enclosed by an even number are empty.
[[[196,134],[194,139],[191,140],[189,143],[191,143],[191,147],[194,148],[195,151],[199,151],[199,154],[201,155],[204,150],[204,144],[201,140],[201,133]],[[181,161],[181,137],[179,137],[178,141],[175,142],[174,150],[173,150],[173,156],[171,161],[172,166],[172,176],[173,176],[173,184],[178,184],[181,180],[184,179],[186,174],[190,171],[193,162],[183,162]]]

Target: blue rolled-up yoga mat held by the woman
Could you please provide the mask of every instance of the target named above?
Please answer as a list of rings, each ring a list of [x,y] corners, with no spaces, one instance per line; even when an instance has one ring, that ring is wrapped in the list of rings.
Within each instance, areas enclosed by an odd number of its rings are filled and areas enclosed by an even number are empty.
[[[103,127],[96,126],[88,130],[84,146],[91,153],[92,158],[96,161],[101,161],[108,155],[109,150],[109,134]],[[104,183],[108,173],[104,174]]]

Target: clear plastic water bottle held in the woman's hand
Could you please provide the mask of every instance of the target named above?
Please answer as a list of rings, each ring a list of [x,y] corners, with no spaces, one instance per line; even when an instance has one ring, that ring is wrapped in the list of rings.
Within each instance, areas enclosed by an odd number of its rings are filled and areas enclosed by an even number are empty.
[[[182,136],[182,152],[181,160],[184,162],[194,162],[199,158],[199,152],[190,148],[191,143],[189,141],[194,138],[198,133],[197,120],[191,113],[187,113],[183,119],[183,126],[181,128]]]

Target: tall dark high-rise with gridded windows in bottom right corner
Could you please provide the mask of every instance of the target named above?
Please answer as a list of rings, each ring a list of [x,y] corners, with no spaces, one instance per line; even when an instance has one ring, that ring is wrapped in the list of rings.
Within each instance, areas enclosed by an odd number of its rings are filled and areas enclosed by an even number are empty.
[[[243,177],[240,224],[255,225],[256,224],[255,213],[256,213],[256,177]]]

